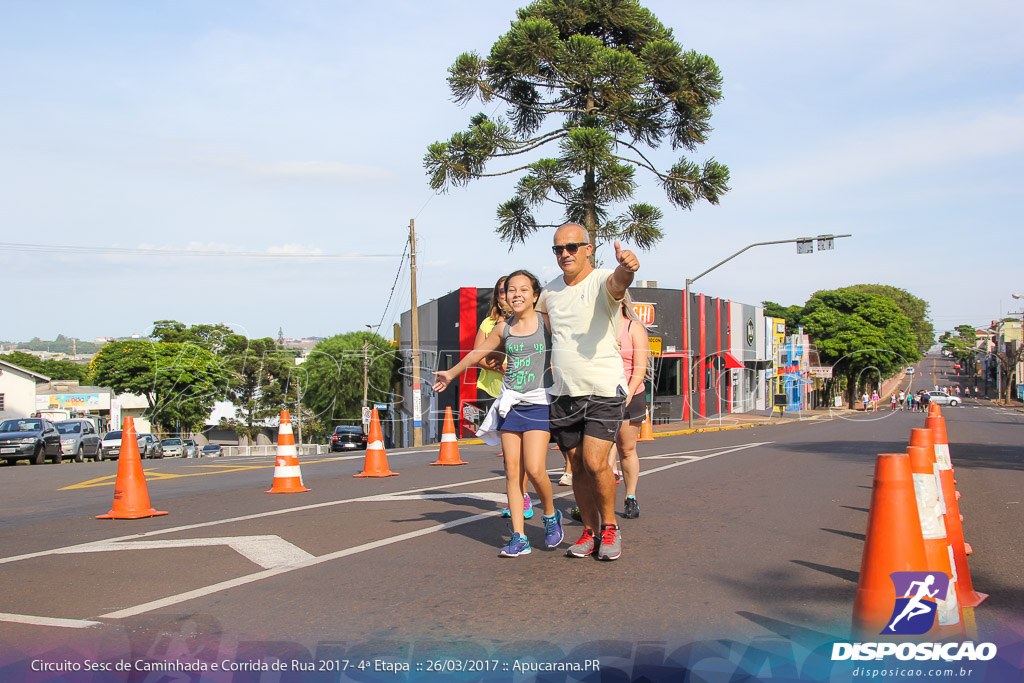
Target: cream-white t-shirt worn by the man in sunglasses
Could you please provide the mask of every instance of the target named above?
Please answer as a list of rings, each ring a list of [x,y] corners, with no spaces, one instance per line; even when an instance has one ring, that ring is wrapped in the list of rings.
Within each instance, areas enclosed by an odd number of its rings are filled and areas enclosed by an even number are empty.
[[[595,269],[569,287],[559,275],[545,285],[537,310],[551,323],[555,396],[626,395],[618,354],[618,305],[606,283],[612,270]]]

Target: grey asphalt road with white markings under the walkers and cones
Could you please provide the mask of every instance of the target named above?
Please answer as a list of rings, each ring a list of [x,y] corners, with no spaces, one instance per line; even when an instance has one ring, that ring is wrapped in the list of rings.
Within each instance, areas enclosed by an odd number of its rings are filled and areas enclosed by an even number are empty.
[[[934,364],[943,379],[949,365]],[[974,585],[991,596],[980,636],[1019,642],[1024,414],[972,398],[944,416]],[[543,550],[539,514],[534,553],[499,558],[502,461],[483,445],[463,446],[460,467],[429,466],[434,447],[392,451],[387,478],[353,478],[361,453],[304,458],[311,490],[290,495],[263,493],[271,458],[145,461],[168,514],[132,521],[94,518],[117,463],[0,467],[0,680],[28,680],[4,671],[37,656],[656,664],[722,642],[811,649],[850,637],[874,458],[920,426],[887,409],[642,443],[641,515],[621,519],[615,562],[564,557],[581,530],[567,517],[566,542]],[[312,680],[291,675],[232,680]]]

